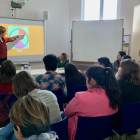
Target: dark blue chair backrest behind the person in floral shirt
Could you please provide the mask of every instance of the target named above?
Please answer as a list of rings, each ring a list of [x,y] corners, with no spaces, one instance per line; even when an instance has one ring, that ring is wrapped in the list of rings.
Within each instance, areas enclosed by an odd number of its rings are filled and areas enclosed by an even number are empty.
[[[57,97],[60,111],[64,111],[64,108],[63,108],[63,90],[56,90],[56,91],[52,91],[52,92]]]

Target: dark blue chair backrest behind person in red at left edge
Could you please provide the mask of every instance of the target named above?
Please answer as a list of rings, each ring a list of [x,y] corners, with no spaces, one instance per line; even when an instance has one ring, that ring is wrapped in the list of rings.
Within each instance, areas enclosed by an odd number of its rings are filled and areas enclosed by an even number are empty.
[[[8,93],[4,93],[4,94],[0,94],[0,100],[3,100]],[[7,101],[8,105],[10,106],[10,108],[12,107],[12,105],[17,101],[17,97],[12,94],[11,97],[9,98],[9,100]]]

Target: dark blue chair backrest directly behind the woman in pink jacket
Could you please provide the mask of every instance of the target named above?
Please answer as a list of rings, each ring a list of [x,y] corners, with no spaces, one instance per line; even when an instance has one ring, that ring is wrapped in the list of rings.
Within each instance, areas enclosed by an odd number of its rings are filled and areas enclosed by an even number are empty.
[[[112,133],[112,115],[79,117],[75,140],[103,140]]]

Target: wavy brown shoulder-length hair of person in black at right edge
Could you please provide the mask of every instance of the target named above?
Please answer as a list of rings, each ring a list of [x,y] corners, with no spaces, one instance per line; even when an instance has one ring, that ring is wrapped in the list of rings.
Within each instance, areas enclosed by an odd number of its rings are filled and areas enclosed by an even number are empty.
[[[120,78],[125,78],[127,82],[140,86],[139,65],[133,60],[125,59],[121,61],[120,66],[122,68]]]

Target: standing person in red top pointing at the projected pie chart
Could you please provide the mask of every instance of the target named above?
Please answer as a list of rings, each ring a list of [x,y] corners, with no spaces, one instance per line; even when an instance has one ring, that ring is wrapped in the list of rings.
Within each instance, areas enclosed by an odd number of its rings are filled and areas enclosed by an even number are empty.
[[[0,26],[0,65],[3,61],[7,60],[7,45],[8,42],[13,42],[20,36],[14,36],[11,38],[6,38],[6,28],[3,26]]]

